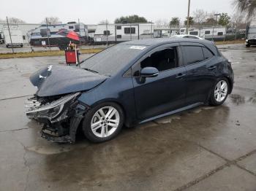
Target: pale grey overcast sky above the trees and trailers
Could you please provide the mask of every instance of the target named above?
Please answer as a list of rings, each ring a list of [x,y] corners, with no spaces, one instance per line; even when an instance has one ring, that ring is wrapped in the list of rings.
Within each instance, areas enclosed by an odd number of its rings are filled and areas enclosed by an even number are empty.
[[[233,14],[233,0],[191,0],[191,12],[204,9],[207,12]],[[1,1],[0,19],[18,17],[26,23],[40,23],[46,16],[59,17],[63,23],[78,21],[97,24],[108,19],[113,23],[122,15],[140,15],[155,22],[159,19],[187,15],[188,0],[7,0]]]

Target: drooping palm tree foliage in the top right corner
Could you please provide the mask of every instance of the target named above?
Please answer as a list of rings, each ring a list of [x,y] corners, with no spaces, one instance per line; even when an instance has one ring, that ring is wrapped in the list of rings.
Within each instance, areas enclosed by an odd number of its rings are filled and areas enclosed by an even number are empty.
[[[235,6],[241,12],[246,12],[248,18],[255,16],[256,0],[234,0]]]

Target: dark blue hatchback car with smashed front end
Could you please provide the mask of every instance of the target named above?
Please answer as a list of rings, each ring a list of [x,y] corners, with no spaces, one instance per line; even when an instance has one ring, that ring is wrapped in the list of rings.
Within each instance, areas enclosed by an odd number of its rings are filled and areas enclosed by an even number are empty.
[[[48,66],[30,77],[38,87],[26,101],[50,141],[75,142],[79,127],[94,142],[126,125],[200,104],[222,104],[233,89],[230,62],[213,42],[146,39],[109,47],[78,68]]]

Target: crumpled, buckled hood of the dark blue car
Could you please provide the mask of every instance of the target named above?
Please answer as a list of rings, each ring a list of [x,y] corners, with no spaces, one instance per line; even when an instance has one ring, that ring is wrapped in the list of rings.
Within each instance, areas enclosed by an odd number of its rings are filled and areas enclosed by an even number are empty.
[[[108,77],[70,66],[47,66],[31,74],[30,81],[40,97],[74,93],[104,82]]]

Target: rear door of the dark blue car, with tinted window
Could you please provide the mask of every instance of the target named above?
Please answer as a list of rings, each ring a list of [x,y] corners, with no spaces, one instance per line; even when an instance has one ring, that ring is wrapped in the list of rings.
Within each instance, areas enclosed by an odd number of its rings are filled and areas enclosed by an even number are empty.
[[[186,104],[205,102],[216,80],[216,58],[210,50],[199,43],[181,42],[181,50],[187,70]],[[205,56],[204,52],[208,55]]]

